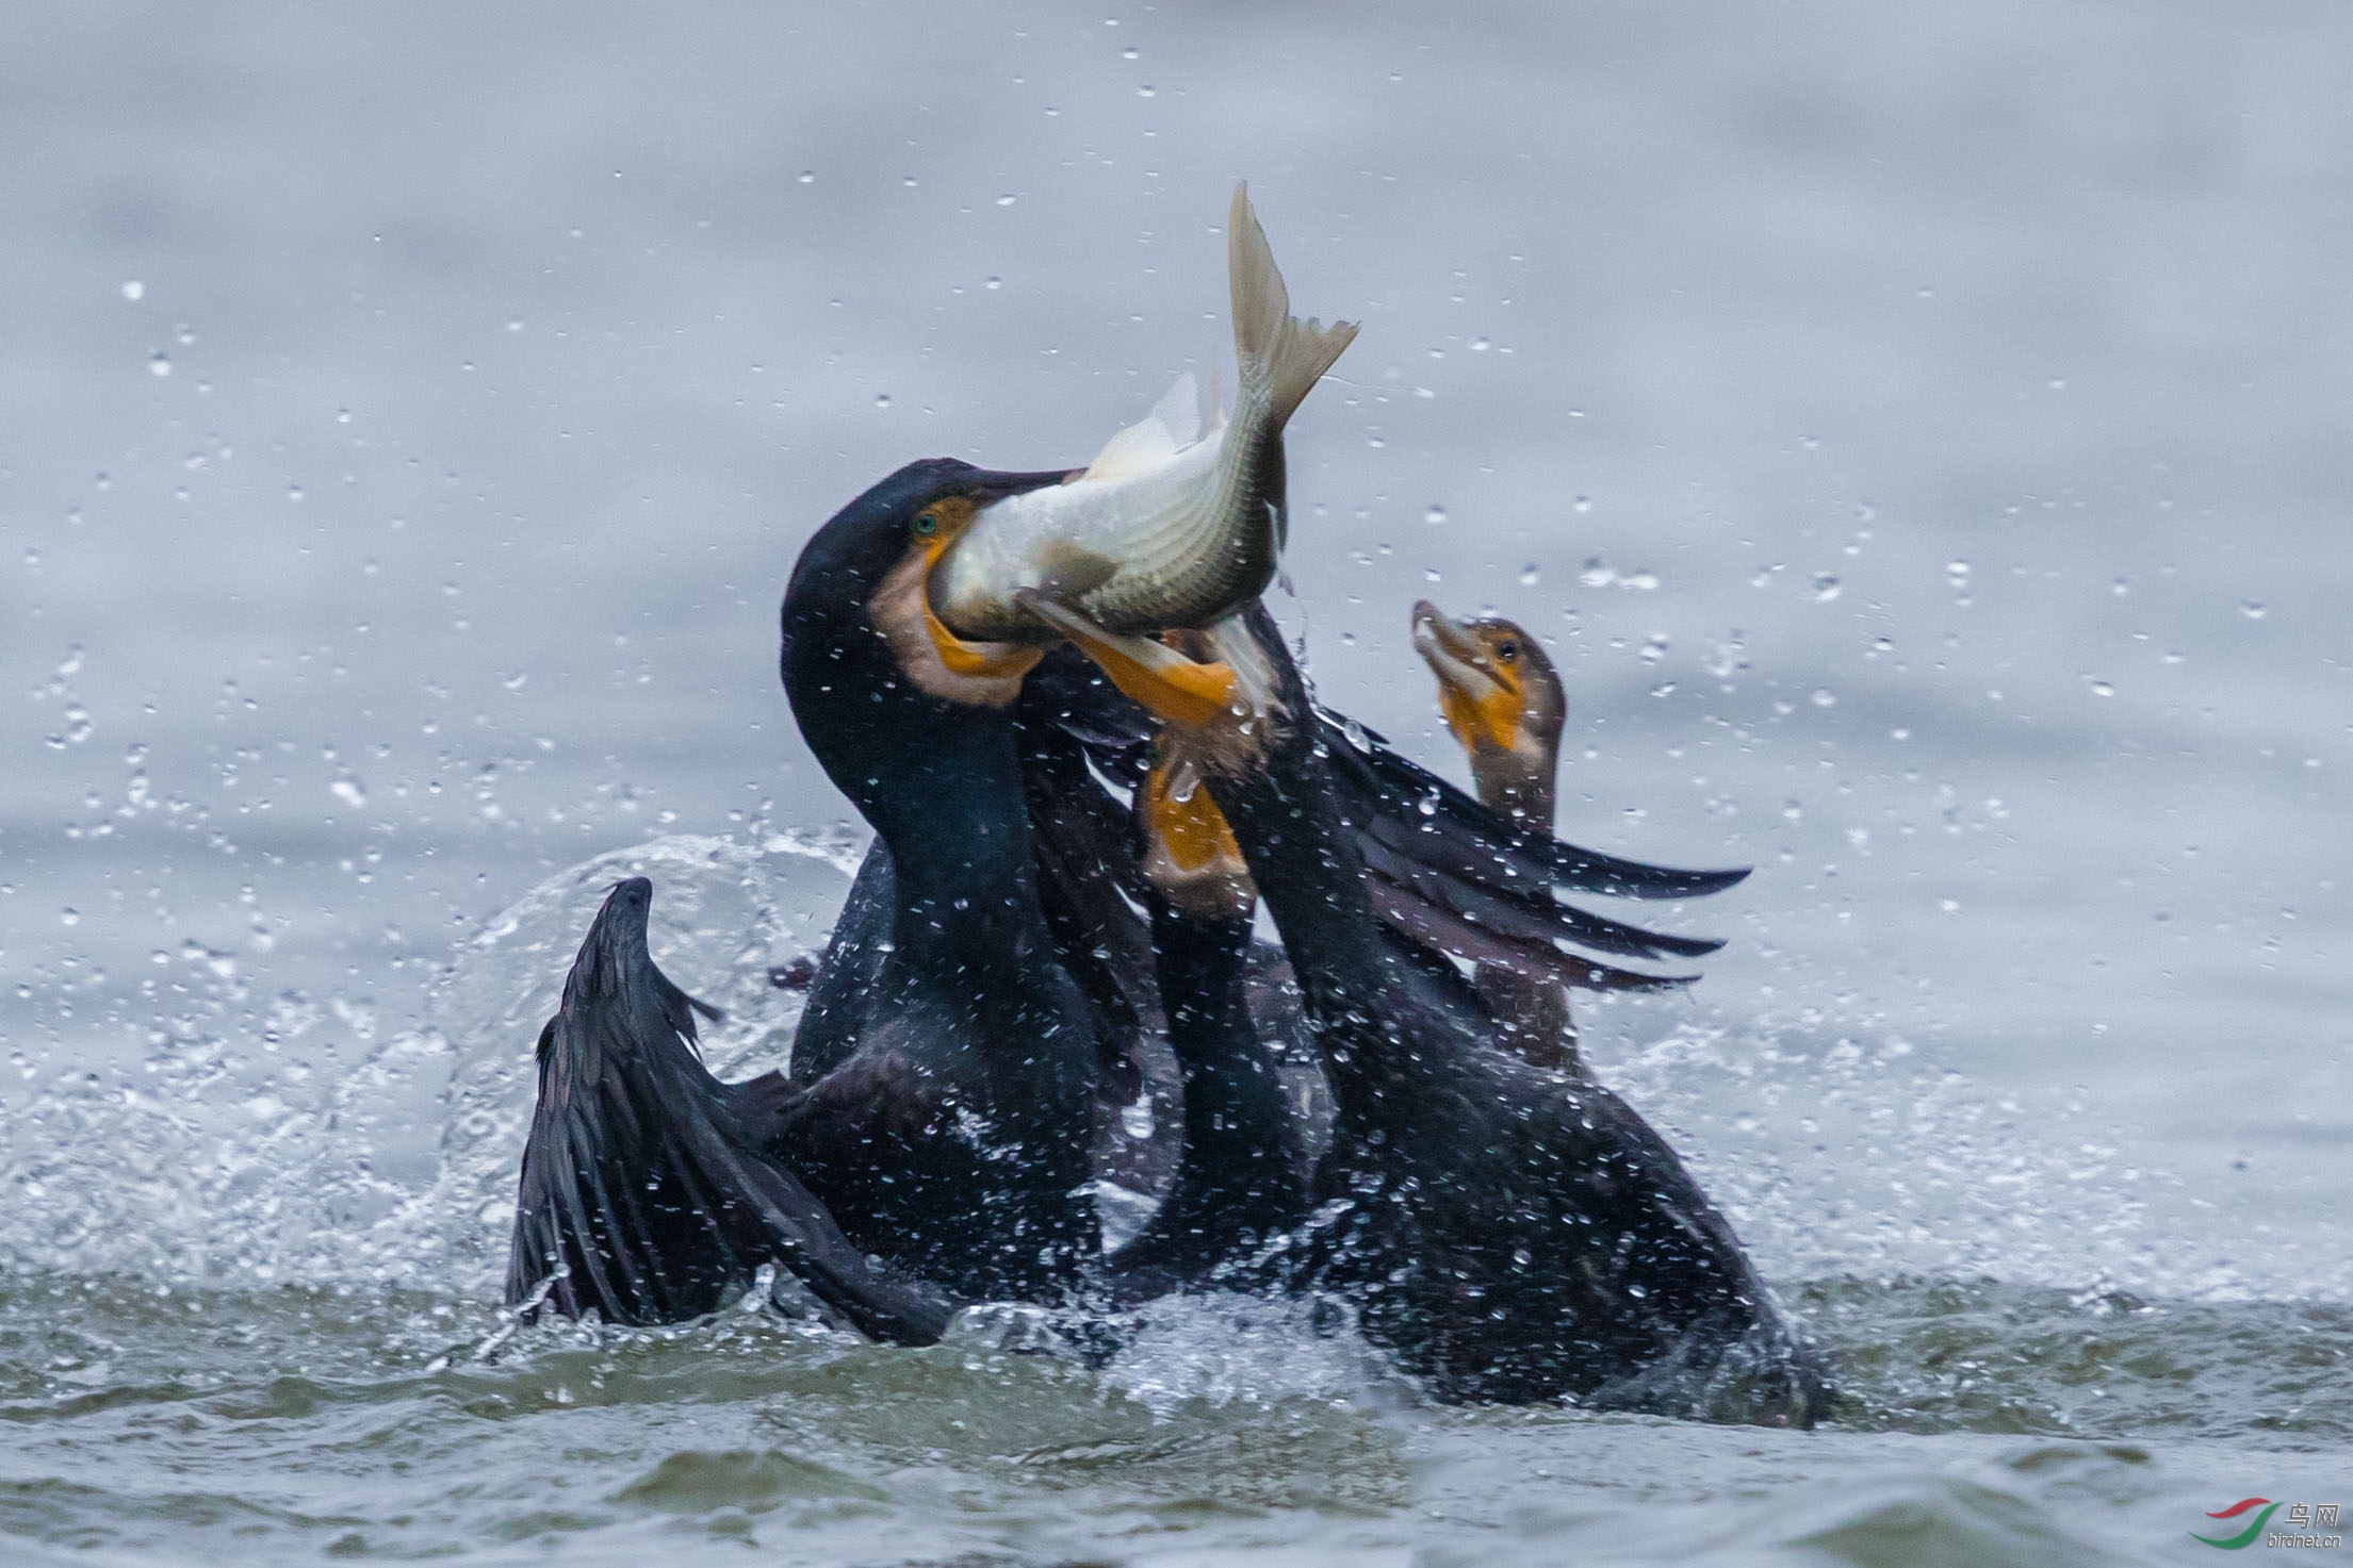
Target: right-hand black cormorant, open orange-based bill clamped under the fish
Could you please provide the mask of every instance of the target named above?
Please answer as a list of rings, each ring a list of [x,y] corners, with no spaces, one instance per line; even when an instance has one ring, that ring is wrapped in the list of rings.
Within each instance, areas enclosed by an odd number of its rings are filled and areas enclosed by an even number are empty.
[[[1332,1147],[1287,1248],[1445,1399],[1809,1425],[1817,1352],[1673,1150],[1614,1093],[1433,1006],[1381,938],[1334,755],[1264,607],[1162,642],[1031,597],[1153,710],[1266,898],[1332,1084]]]

